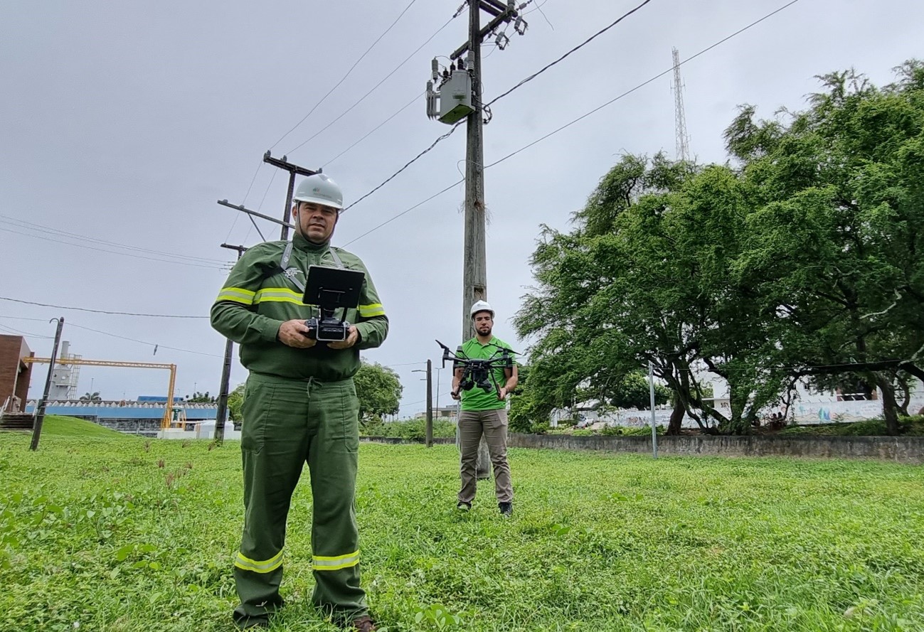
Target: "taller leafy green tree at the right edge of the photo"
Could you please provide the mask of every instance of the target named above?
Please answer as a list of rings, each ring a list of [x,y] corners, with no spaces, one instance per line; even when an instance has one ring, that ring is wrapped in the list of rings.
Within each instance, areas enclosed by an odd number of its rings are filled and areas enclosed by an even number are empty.
[[[899,71],[884,88],[821,76],[788,126],[746,107],[726,130],[756,209],[739,281],[786,323],[796,375],[878,386],[892,433],[896,390],[924,377],[924,67]]]

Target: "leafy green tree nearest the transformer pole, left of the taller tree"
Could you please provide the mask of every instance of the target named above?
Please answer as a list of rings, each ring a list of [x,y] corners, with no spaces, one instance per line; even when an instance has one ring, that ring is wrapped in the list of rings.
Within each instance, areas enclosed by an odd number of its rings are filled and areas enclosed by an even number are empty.
[[[703,384],[694,369],[702,332],[716,326],[715,298],[731,297],[724,288],[704,288],[703,279],[714,285],[727,278],[716,232],[730,230],[723,217],[742,202],[715,195],[722,208],[706,213],[687,203],[702,217],[682,214],[680,193],[694,180],[734,188],[735,176],[718,167],[699,174],[661,154],[624,156],[575,214],[575,230],[543,227],[531,259],[537,286],[515,321],[521,336],[536,340],[534,385],[526,388],[535,415],[588,395],[606,399],[651,362],[675,392],[668,431],[679,432],[685,414],[711,429],[697,414]]]

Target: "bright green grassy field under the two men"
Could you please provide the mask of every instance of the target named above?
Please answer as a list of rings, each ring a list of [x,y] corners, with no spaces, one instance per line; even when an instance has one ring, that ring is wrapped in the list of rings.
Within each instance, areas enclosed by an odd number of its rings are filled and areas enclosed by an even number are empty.
[[[0,629],[232,630],[237,444],[48,419],[0,433]],[[512,450],[515,516],[454,446],[362,444],[363,584],[390,630],[924,630],[924,470],[857,461]],[[276,631],[310,607],[311,498]]]

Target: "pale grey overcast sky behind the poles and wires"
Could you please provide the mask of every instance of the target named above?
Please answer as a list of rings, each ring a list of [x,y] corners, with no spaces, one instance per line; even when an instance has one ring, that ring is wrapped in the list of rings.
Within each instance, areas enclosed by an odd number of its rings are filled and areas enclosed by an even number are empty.
[[[225,279],[223,262],[235,257],[219,244],[261,241],[246,216],[216,201],[281,216],[287,175],[261,163],[272,149],[323,167],[349,204],[448,131],[426,117],[422,92],[432,57],[466,39],[467,11],[446,24],[459,2],[0,3],[0,297],[201,317],[0,300],[0,332],[29,334],[30,347],[48,356],[52,340],[42,336],[55,331],[48,319],[63,315],[73,353],[173,362],[178,395],[216,394],[225,345],[205,317]],[[483,48],[485,100],[639,2],[529,4],[525,36],[508,30],[505,50]],[[653,0],[495,103],[485,163],[668,70],[672,47],[687,59],[787,2]],[[691,152],[701,163],[725,162],[722,132],[738,104],[753,103],[764,116],[779,106],[801,109],[817,88],[814,75],[856,67],[875,83],[890,81],[893,67],[924,56],[921,24],[919,0],[799,0],[692,59],[681,70]],[[528,345],[511,318],[532,282],[540,225],[568,229],[620,154],[673,156],[671,85],[668,73],[486,171],[488,298],[494,333],[515,349]],[[399,372],[403,416],[424,406],[422,374],[411,371],[428,358],[439,366],[433,339],[460,342],[464,188],[363,235],[460,179],[464,157],[463,126],[344,214],[334,234],[334,245],[366,262],[383,298],[391,332],[365,357]],[[278,226],[258,225],[279,238]],[[44,375],[36,371],[30,396],[41,395]],[[441,405],[449,402],[448,376],[442,371]],[[236,358],[232,387],[245,378]],[[79,394],[165,395],[166,385],[166,371],[84,367]]]

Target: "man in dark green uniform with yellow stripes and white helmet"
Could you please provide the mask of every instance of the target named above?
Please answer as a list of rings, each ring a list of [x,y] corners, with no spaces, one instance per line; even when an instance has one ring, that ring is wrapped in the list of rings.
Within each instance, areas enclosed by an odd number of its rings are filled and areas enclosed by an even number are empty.
[[[241,628],[267,626],[283,605],[286,517],[305,462],[311,480],[311,601],[343,626],[375,630],[359,587],[355,513],[359,400],[353,375],[359,351],[380,346],[388,319],[359,257],[333,248],[343,194],[323,174],[305,178],[293,196],[291,242],[248,249],[212,307],[212,325],[240,344],[249,370],[243,409],[244,534],[235,559]],[[343,341],[318,342],[305,321],[320,317],[302,302],[310,265],[365,274]],[[298,525],[297,529],[301,529]]]

